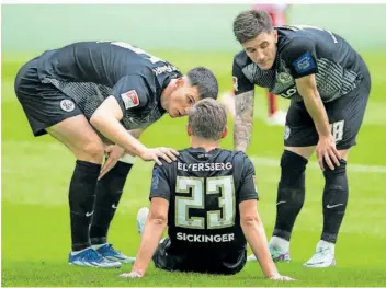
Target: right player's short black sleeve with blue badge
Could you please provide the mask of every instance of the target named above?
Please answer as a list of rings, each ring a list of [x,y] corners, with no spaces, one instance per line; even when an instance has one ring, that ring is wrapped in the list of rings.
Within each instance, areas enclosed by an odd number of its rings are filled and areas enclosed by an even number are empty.
[[[308,38],[294,38],[281,57],[295,79],[318,72],[315,43]]]

